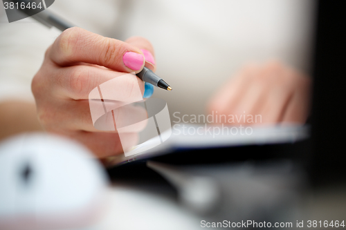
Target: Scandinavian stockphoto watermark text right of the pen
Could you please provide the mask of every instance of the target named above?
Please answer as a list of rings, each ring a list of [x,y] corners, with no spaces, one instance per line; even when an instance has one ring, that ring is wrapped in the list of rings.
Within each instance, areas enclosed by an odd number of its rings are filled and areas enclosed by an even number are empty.
[[[173,117],[172,135],[208,135],[213,138],[219,135],[252,135],[251,125],[262,123],[262,115],[246,114],[246,111],[228,115],[218,114],[217,111],[209,115],[182,115],[175,112]]]

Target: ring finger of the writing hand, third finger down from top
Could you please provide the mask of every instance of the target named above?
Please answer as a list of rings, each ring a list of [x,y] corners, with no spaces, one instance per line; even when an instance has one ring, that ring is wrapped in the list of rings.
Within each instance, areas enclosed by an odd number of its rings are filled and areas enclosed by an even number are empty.
[[[116,106],[116,102],[112,102],[112,104]],[[95,121],[91,117],[91,112],[94,111],[92,111],[92,105],[89,108],[88,100],[73,100],[67,103],[55,104],[60,113],[57,113],[54,119],[50,119],[53,108],[50,105],[45,107],[44,109],[40,108],[38,112],[41,122],[49,131],[60,129],[118,133],[118,129],[121,128],[122,133],[135,133],[143,131],[147,125],[147,111],[140,106],[131,104],[117,106],[119,108],[107,113],[104,113],[102,108],[102,111],[100,111],[102,115]]]

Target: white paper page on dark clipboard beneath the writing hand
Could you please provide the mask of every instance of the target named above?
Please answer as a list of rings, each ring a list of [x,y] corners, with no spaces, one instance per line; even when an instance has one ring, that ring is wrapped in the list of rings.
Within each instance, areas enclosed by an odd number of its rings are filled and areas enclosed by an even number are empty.
[[[249,134],[249,131],[248,135],[244,132],[238,132],[237,134],[235,134],[235,132],[220,132],[218,134],[217,127],[219,126],[184,125],[184,128],[183,126],[181,126],[180,129],[175,128],[174,131],[172,131],[172,135],[162,144],[156,146],[156,143],[159,140],[159,137],[156,136],[147,142],[134,146],[134,148],[127,153],[127,155],[129,155],[128,157],[120,155],[110,158],[109,165],[123,164],[125,162],[131,162],[145,157],[163,155],[174,151],[176,148],[215,148],[251,144],[292,143],[309,137],[309,127],[300,125],[251,127],[252,132]],[[232,128],[232,126],[227,127]],[[192,132],[190,132],[190,134],[185,132],[184,135],[183,129],[187,131],[189,128],[190,131],[199,128],[200,132],[194,134],[191,134]],[[208,128],[210,128],[209,132],[203,132]],[[181,131],[180,134],[179,131]],[[202,133],[203,135],[201,135]],[[161,135],[165,135],[165,133],[162,133]]]

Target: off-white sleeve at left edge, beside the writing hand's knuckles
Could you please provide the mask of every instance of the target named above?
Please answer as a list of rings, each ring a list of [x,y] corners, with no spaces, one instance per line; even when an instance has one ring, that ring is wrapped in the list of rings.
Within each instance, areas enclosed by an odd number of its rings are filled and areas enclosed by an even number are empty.
[[[0,101],[33,101],[31,80],[44,52],[59,35],[31,19],[0,24]]]

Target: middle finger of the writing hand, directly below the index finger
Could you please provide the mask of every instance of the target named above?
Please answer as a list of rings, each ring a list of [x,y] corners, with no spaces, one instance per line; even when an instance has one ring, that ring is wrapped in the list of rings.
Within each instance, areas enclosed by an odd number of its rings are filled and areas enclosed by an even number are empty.
[[[144,82],[135,75],[95,66],[57,68],[53,75],[54,93],[71,99],[100,98],[101,92],[102,99],[136,102],[144,93]]]

